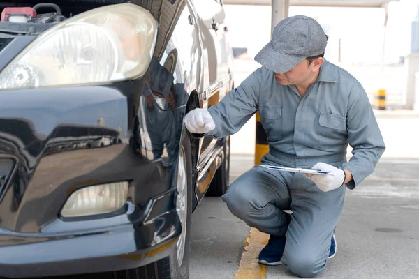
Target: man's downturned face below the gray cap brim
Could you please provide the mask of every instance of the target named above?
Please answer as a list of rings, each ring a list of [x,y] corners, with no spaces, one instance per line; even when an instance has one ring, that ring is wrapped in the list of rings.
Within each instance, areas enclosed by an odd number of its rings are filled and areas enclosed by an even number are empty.
[[[286,73],[274,73],[275,79],[281,85],[304,84],[314,73],[314,63],[309,64],[307,59],[304,59],[295,68],[288,70]]]

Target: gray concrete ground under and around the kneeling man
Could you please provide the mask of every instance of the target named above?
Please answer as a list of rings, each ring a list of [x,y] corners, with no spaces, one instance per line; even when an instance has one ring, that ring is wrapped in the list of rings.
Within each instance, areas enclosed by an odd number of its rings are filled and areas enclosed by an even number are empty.
[[[252,165],[253,156],[233,154],[230,181]],[[383,158],[346,192],[337,255],[316,278],[419,278],[418,170],[419,158]],[[219,197],[205,197],[193,213],[192,235],[191,279],[296,278],[258,264],[267,235],[250,232]]]

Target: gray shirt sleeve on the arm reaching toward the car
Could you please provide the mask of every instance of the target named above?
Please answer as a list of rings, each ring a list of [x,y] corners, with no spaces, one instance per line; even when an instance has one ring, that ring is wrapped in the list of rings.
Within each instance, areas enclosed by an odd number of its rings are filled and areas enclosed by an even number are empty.
[[[261,68],[254,71],[232,91],[228,92],[218,105],[208,109],[215,123],[214,130],[205,135],[218,139],[237,133],[258,110],[260,96]]]

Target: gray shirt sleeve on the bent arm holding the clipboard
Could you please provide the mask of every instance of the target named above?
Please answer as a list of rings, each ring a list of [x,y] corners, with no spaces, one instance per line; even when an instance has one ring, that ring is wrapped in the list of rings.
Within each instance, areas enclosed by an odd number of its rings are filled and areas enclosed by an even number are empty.
[[[346,184],[349,189],[358,186],[374,172],[376,163],[385,151],[384,140],[367,93],[362,86],[357,87],[357,92],[349,97],[346,117],[348,143],[353,148],[353,157],[342,166],[353,176],[353,180]]]

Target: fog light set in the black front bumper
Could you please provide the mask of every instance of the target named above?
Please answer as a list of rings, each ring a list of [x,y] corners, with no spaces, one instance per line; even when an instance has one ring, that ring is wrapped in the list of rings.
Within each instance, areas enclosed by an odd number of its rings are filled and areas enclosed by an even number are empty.
[[[128,196],[128,181],[76,190],[61,210],[63,217],[89,216],[121,209]]]

